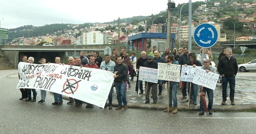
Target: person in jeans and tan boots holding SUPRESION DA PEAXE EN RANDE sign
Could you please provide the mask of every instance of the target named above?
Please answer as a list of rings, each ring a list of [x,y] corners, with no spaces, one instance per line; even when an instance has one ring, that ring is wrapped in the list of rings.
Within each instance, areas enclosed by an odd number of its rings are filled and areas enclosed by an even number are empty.
[[[165,61],[167,62],[168,65],[170,64],[179,64],[178,61],[174,59],[174,56],[172,55],[166,55]],[[172,113],[177,113],[178,109],[178,101],[177,101],[177,89],[178,89],[178,84],[179,82],[173,82],[173,81],[168,81],[168,86],[169,86],[169,101],[168,101],[168,108],[164,110],[164,112],[172,112]],[[172,101],[173,101],[173,107],[172,107]]]

